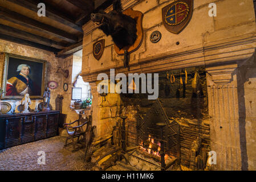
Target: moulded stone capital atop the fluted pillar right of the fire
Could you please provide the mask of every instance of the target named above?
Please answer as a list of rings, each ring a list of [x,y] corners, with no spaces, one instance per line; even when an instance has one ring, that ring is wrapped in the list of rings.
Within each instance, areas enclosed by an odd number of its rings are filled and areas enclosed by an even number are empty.
[[[237,64],[220,65],[206,68],[206,72],[217,85],[227,85],[233,81],[233,75],[237,69]]]

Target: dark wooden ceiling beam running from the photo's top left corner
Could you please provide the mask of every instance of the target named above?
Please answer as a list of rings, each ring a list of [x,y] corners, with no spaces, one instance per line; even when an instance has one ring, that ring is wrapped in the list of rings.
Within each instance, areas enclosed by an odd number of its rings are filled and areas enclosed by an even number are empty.
[[[35,13],[37,13],[39,10],[37,7],[38,3],[36,3],[35,1],[29,1],[29,0],[6,0],[6,1],[14,3],[15,5],[22,6],[26,9],[32,10]],[[55,20],[56,22],[65,24],[68,27],[74,28],[79,32],[83,32],[82,27],[76,24],[74,20],[71,20],[67,16],[64,16],[63,14],[59,13],[58,10],[53,9],[49,5],[46,6],[46,17],[52,20]]]

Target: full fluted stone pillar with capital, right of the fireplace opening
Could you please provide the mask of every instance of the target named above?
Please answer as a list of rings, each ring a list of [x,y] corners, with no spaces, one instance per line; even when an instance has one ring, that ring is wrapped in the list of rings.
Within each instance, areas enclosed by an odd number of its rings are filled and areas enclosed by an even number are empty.
[[[241,142],[237,93],[237,64],[206,68],[211,150],[215,170],[241,170]]]

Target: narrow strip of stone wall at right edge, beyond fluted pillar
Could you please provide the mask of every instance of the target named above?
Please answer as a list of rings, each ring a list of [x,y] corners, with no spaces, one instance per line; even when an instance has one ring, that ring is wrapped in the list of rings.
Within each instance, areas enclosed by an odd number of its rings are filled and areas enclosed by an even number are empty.
[[[240,115],[240,134],[243,161],[249,170],[256,170],[256,59],[255,56],[246,61],[238,69],[238,99]]]

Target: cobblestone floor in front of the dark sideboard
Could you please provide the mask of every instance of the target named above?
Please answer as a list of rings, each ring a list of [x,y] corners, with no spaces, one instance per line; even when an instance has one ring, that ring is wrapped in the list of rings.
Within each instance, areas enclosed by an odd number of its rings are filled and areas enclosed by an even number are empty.
[[[63,148],[64,138],[52,137],[0,151],[0,171],[82,171],[91,168],[84,163],[84,150]],[[38,164],[38,151],[46,154],[46,164]]]

